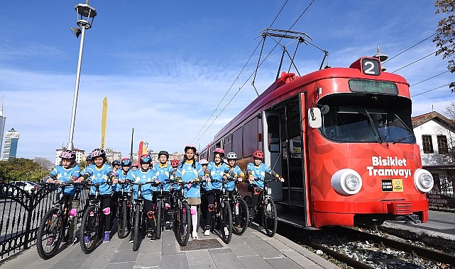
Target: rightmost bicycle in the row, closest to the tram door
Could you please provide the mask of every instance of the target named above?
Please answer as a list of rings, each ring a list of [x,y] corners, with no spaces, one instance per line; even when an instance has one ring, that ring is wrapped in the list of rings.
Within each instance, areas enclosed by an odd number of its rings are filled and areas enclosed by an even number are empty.
[[[266,175],[268,176],[268,175]],[[248,208],[251,212],[260,212],[261,216],[260,222],[261,226],[265,229],[265,234],[269,237],[273,237],[276,233],[277,225],[278,225],[278,217],[276,212],[275,202],[272,199],[272,188],[268,187],[268,183],[276,181],[280,182],[278,179],[268,179],[264,178],[264,186],[263,188],[257,188],[256,192],[259,192],[258,204],[257,205],[250,205]],[[250,220],[248,222],[248,226],[251,225],[253,219],[258,217],[258,214],[250,214]],[[256,218],[257,219],[257,218]]]

